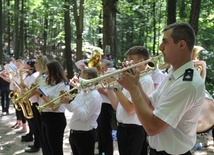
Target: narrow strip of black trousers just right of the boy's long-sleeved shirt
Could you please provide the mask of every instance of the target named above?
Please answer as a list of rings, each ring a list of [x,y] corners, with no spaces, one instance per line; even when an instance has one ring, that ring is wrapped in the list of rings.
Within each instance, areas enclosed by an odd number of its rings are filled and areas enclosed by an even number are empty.
[[[113,138],[112,138],[112,116],[114,109],[111,104],[102,103],[100,115],[98,117],[98,147],[99,154],[113,155]]]

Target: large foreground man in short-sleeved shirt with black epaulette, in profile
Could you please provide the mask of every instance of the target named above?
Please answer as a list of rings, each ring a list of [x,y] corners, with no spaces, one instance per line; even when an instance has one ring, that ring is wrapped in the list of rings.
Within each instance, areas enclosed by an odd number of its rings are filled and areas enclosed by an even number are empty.
[[[173,23],[163,30],[159,45],[170,72],[148,96],[139,85],[139,72],[125,72],[118,82],[129,91],[137,116],[149,135],[150,155],[184,154],[196,143],[198,118],[205,85],[192,62],[195,33],[188,23]]]

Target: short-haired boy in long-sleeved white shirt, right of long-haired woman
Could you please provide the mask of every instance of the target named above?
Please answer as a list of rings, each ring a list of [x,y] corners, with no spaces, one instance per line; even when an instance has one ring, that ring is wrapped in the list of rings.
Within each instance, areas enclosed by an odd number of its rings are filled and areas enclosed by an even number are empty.
[[[80,80],[98,76],[93,68],[83,70]],[[100,114],[102,98],[97,90],[81,90],[72,100],[70,95],[61,98],[66,108],[73,112],[70,120],[69,142],[73,155],[94,155],[97,118]]]

